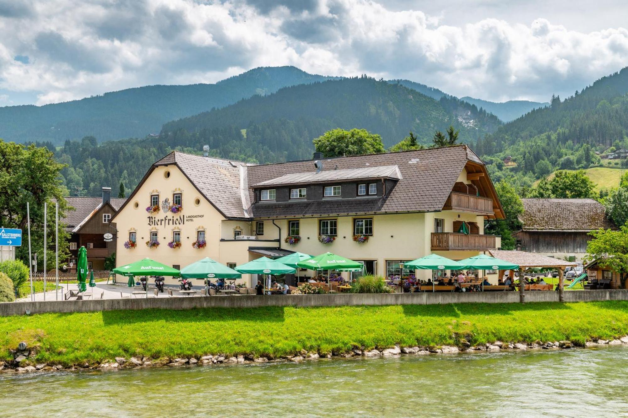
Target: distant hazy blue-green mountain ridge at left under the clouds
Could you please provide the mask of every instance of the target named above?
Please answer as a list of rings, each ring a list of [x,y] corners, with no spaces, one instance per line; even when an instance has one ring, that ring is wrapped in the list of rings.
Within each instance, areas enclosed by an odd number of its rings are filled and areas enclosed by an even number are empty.
[[[330,78],[295,67],[260,67],[215,84],[151,85],[65,103],[0,107],[0,137],[55,145],[84,136],[99,141],[144,137],[173,119]]]

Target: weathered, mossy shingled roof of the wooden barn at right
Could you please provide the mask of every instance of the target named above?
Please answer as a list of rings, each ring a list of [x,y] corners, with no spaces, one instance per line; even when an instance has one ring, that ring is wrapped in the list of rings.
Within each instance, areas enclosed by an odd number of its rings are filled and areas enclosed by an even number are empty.
[[[604,206],[593,199],[521,199],[524,212],[519,215],[524,231],[588,232],[613,228]]]

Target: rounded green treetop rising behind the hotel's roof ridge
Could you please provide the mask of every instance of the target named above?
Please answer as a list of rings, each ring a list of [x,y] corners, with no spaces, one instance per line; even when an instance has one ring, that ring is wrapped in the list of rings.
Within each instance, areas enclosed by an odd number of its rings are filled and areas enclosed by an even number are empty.
[[[366,129],[332,129],[314,139],[314,147],[323,157],[385,153],[382,137]]]

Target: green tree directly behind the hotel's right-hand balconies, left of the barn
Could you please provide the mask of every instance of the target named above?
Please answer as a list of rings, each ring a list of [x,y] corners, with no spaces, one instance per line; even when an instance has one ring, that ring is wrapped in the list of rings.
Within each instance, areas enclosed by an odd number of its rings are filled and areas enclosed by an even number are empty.
[[[504,208],[504,220],[490,219],[484,223],[484,233],[493,235],[499,235],[502,237],[502,249],[514,250],[515,240],[512,237],[512,232],[521,229],[521,221],[519,215],[523,213],[523,203],[517,191],[514,187],[506,183],[506,181],[500,181],[495,185],[495,191],[497,197]]]

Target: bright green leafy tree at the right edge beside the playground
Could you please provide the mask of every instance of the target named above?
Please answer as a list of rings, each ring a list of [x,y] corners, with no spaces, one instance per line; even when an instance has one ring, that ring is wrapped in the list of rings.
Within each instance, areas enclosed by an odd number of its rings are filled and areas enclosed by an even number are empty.
[[[628,225],[618,231],[600,229],[589,233],[593,239],[587,243],[586,262],[597,260],[600,267],[618,272],[620,286],[625,288],[625,274],[628,272]]]

